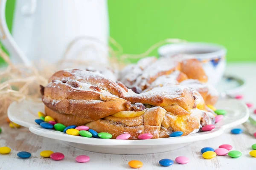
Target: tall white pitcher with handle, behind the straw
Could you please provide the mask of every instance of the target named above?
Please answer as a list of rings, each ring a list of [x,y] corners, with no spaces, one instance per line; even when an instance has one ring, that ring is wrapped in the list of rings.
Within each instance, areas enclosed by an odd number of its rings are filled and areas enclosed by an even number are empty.
[[[13,37],[6,26],[5,6],[6,0],[1,0],[0,40],[16,63],[29,65],[39,58],[56,62],[79,37],[90,37],[83,42],[87,46],[108,44],[107,0],[16,0]],[[89,53],[86,56],[95,59]],[[107,62],[107,55],[100,56]]]

